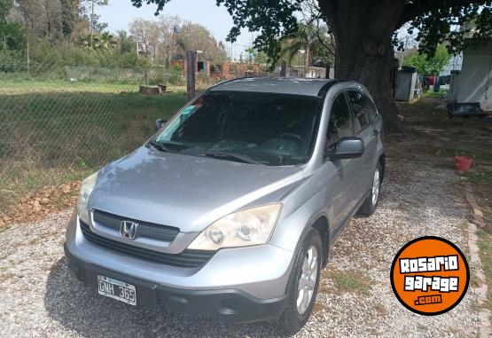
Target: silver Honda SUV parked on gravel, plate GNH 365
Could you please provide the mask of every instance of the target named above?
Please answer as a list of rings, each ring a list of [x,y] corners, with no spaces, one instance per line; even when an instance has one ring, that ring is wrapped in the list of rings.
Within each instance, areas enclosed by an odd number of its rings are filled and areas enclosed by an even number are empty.
[[[218,84],[82,182],[67,265],[130,305],[297,332],[340,229],[378,206],[381,128],[359,83]]]

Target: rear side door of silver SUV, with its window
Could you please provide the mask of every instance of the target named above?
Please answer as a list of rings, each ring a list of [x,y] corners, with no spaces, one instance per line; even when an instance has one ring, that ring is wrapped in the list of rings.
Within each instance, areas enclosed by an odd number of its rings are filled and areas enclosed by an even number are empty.
[[[355,159],[360,170],[357,177],[357,195],[358,200],[361,200],[371,189],[377,158],[376,138],[379,130],[376,130],[371,123],[370,98],[362,91],[348,90],[348,101],[354,114],[354,136],[362,138],[364,144],[363,155]]]

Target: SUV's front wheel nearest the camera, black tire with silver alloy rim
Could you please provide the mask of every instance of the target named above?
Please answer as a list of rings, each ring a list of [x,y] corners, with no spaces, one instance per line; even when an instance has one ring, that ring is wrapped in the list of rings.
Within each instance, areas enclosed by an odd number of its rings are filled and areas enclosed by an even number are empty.
[[[309,255],[314,257],[316,249],[316,277],[313,281],[313,272],[315,270],[308,269]],[[321,274],[321,264],[323,263],[323,245],[321,243],[321,236],[316,228],[311,228],[302,240],[301,249],[295,257],[293,265],[293,272],[289,279],[289,285],[287,286],[287,303],[285,309],[280,318],[278,319],[278,326],[280,326],[285,334],[295,334],[301,330],[313,311],[313,307],[316,301],[317,289],[319,287],[319,279]],[[314,267],[314,265],[311,265]],[[304,267],[304,274],[303,274]],[[303,282],[301,284],[301,276],[303,276]],[[309,276],[310,279],[306,279]],[[311,283],[307,283],[311,280]],[[313,287],[314,282],[314,287]],[[299,290],[299,288],[302,288]],[[308,292],[308,289],[312,288],[312,293]],[[308,301],[305,300],[305,295],[308,297]],[[298,298],[303,302],[298,306]]]

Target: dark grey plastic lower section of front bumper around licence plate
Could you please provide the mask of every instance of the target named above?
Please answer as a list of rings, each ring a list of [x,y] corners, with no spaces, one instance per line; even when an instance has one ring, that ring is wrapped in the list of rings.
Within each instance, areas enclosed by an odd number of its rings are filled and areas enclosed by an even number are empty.
[[[66,264],[74,277],[94,290],[98,290],[98,275],[134,285],[137,290],[137,305],[162,305],[172,312],[213,315],[235,323],[275,320],[285,306],[285,295],[273,299],[258,299],[238,289],[187,290],[165,287],[85,263],[71,255],[66,246],[65,256]]]

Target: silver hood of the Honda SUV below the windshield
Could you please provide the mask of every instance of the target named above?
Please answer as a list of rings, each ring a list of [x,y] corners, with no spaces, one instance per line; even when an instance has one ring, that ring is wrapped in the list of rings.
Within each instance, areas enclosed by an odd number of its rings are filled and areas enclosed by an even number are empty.
[[[99,171],[89,207],[200,232],[238,208],[281,199],[302,177],[297,167],[160,153],[142,146]]]

